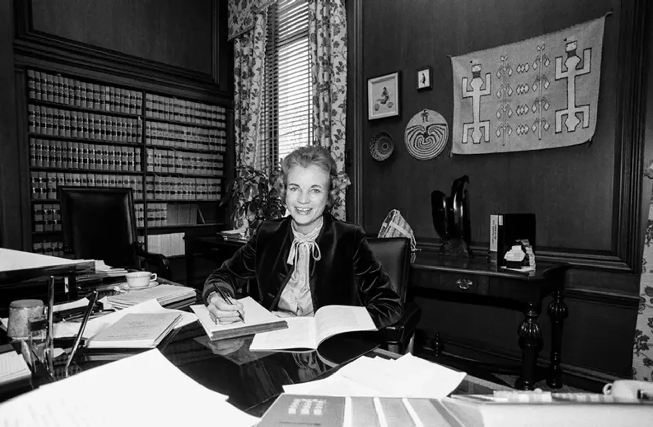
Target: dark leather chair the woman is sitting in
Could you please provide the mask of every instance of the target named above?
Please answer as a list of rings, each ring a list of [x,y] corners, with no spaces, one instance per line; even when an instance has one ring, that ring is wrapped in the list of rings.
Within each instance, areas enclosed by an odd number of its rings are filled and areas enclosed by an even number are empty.
[[[408,279],[410,274],[410,240],[406,237],[389,237],[368,239],[372,252],[381,263],[392,280],[394,291],[399,294],[404,303],[404,316],[394,325],[381,331],[388,350],[395,353],[406,353],[411,350],[411,340],[415,328],[422,316],[422,308],[415,302],[406,302]]]

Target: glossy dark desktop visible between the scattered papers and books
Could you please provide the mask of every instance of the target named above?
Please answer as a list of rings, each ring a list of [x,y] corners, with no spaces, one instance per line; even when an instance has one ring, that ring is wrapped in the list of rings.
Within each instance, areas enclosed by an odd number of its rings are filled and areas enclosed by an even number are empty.
[[[252,336],[210,342],[199,323],[191,323],[173,332],[159,346],[161,353],[183,373],[208,389],[227,394],[236,407],[260,416],[283,392],[283,385],[303,383],[327,377],[340,366],[360,355],[385,358],[398,357],[377,348],[368,333],[343,334],[307,353],[252,352]],[[90,360],[89,360],[90,359]],[[112,355],[80,354],[71,374],[115,360]],[[63,378],[65,359],[56,361],[55,377]],[[468,375],[456,394],[490,393],[505,386]]]

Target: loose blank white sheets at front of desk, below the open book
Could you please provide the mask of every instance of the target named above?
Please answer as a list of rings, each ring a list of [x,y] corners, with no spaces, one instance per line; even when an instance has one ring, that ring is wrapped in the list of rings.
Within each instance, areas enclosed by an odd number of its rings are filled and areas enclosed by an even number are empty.
[[[379,375],[380,372],[383,374]],[[394,360],[363,356],[325,379],[284,385],[283,391],[319,396],[440,399],[451,394],[465,375],[409,353]]]

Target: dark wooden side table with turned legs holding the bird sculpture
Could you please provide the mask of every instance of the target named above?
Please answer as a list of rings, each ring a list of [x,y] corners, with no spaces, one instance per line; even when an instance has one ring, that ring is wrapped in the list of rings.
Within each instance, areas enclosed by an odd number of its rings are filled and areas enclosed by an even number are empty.
[[[419,252],[413,269],[436,275],[434,280],[421,283],[419,287],[428,287],[429,294],[438,299],[518,308],[524,313],[517,331],[522,349],[521,375],[515,383],[515,388],[522,390],[534,389],[535,362],[542,342],[537,317],[544,297],[552,295],[547,310],[552,326],[547,385],[556,389],[562,387],[562,326],[569,315],[563,295],[566,265],[537,263],[535,271],[526,273],[499,268],[485,256],[465,259]]]

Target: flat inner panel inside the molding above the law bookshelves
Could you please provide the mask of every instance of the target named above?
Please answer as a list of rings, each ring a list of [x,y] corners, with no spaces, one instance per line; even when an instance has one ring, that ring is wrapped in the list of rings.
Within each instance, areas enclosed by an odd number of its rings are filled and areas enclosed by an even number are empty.
[[[31,0],[34,31],[205,74],[212,0]]]

